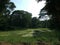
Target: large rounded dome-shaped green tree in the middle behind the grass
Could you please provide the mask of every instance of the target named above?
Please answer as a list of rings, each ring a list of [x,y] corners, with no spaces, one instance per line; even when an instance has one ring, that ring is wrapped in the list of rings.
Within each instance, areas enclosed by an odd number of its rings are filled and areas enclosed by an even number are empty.
[[[11,24],[20,28],[29,27],[32,18],[31,16],[32,14],[27,11],[15,10],[11,15]]]

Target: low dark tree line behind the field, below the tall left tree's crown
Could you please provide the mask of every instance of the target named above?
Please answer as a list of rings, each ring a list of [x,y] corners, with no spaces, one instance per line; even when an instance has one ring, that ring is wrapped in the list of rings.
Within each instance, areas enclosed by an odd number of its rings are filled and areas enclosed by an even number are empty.
[[[0,19],[0,30],[46,27],[45,21],[40,21],[39,18],[32,17],[31,13],[23,10],[15,10],[10,15],[2,15]]]

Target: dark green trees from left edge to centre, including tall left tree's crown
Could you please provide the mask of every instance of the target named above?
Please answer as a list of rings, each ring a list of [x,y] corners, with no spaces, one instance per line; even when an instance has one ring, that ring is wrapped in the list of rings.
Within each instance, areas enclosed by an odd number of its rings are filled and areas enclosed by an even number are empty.
[[[39,18],[32,17],[32,14],[27,11],[14,10],[16,6],[10,0],[0,0],[0,2],[0,30],[48,26],[46,21],[41,22]]]

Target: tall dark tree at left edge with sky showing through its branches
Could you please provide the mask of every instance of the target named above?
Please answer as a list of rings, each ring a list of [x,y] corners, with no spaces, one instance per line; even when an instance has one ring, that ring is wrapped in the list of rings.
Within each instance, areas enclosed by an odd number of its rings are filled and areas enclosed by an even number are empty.
[[[9,17],[11,11],[15,8],[13,2],[10,0],[0,0],[0,29],[6,29],[9,27]]]

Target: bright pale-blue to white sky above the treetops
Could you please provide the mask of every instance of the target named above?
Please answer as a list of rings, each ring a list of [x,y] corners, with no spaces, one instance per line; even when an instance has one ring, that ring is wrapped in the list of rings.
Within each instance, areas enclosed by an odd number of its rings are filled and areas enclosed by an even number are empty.
[[[32,13],[32,17],[39,17],[40,10],[45,6],[45,1],[37,3],[36,0],[11,0],[16,5],[15,10],[24,10]]]

